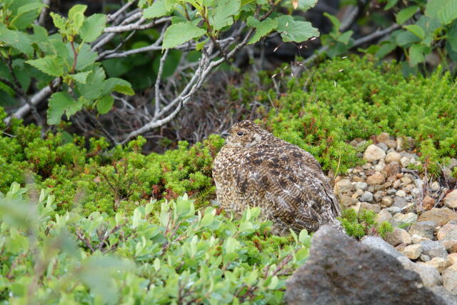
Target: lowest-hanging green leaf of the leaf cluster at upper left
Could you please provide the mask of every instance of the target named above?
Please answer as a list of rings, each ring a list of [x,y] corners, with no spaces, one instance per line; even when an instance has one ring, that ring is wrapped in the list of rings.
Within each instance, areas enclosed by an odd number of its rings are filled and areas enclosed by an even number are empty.
[[[48,108],[48,124],[59,124],[64,113],[67,117],[76,114],[76,111],[81,110],[83,102],[75,101],[66,92],[56,92],[49,98]]]

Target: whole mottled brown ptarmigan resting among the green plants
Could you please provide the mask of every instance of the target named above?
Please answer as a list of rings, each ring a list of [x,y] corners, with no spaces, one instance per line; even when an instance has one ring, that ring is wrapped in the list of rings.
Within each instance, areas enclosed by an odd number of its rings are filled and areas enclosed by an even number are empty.
[[[214,160],[217,199],[229,211],[260,206],[275,232],[316,231],[330,224],[343,231],[341,209],[318,161],[251,121],[231,127]]]

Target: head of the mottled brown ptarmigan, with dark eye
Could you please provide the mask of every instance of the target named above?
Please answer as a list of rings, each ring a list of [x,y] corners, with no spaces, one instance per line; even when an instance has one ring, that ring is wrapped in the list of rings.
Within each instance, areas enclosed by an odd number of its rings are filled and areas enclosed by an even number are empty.
[[[231,129],[224,131],[221,136],[226,139],[227,146],[247,148],[261,144],[273,135],[257,124],[245,120],[231,126]]]

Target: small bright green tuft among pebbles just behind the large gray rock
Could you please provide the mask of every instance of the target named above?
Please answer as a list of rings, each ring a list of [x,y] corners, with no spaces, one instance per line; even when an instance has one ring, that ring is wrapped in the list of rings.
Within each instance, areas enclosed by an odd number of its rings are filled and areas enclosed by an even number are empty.
[[[338,217],[346,233],[356,239],[366,235],[380,235],[384,238],[387,233],[393,231],[390,223],[383,221],[378,224],[375,219],[376,213],[365,209],[358,213],[354,209],[346,209],[343,210],[341,217]]]

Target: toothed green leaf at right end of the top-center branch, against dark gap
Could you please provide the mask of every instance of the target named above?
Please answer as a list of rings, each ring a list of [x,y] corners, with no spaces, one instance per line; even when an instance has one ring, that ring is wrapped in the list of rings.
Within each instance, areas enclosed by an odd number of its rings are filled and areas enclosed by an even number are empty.
[[[319,36],[319,31],[308,21],[297,21],[292,16],[281,16],[278,18],[278,28],[283,41],[303,42],[311,37]]]

